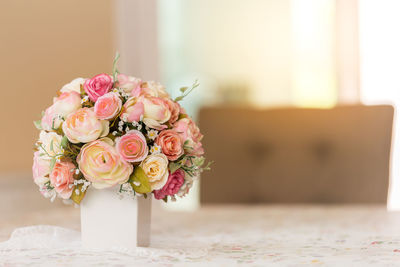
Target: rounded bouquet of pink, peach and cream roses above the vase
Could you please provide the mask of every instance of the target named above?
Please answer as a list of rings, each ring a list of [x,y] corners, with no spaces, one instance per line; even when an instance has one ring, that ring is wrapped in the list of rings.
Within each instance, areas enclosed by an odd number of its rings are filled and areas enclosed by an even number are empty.
[[[119,73],[118,57],[112,76],[64,85],[34,122],[33,180],[51,201],[79,204],[90,186],[119,186],[121,196],[152,193],[167,202],[209,169],[203,135],[179,104],[198,83],[172,100],[160,83]]]

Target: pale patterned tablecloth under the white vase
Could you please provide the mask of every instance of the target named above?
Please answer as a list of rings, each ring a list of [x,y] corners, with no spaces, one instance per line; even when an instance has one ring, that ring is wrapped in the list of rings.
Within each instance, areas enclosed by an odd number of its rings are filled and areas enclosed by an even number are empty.
[[[149,248],[88,251],[79,232],[16,229],[0,266],[400,266],[400,213],[383,206],[213,206],[153,213]]]

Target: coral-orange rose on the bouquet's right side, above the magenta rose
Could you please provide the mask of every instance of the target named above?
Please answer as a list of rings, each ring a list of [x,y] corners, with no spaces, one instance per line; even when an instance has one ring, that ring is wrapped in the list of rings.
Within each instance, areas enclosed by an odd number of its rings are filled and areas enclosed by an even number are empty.
[[[157,136],[155,143],[161,147],[162,152],[171,161],[183,155],[183,142],[174,130],[163,130]]]

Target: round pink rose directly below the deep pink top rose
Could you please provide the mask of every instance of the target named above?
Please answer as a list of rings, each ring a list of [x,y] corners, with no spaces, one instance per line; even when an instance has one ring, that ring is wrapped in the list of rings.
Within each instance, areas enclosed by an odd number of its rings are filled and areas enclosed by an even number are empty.
[[[117,93],[107,93],[100,96],[94,104],[94,113],[101,120],[115,118],[121,110],[122,100]]]

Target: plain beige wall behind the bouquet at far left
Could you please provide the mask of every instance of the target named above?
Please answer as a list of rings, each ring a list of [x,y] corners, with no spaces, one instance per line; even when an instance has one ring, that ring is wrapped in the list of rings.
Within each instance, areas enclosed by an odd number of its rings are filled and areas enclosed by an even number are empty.
[[[0,172],[29,171],[32,121],[63,84],[111,71],[112,15],[111,1],[1,1]]]

